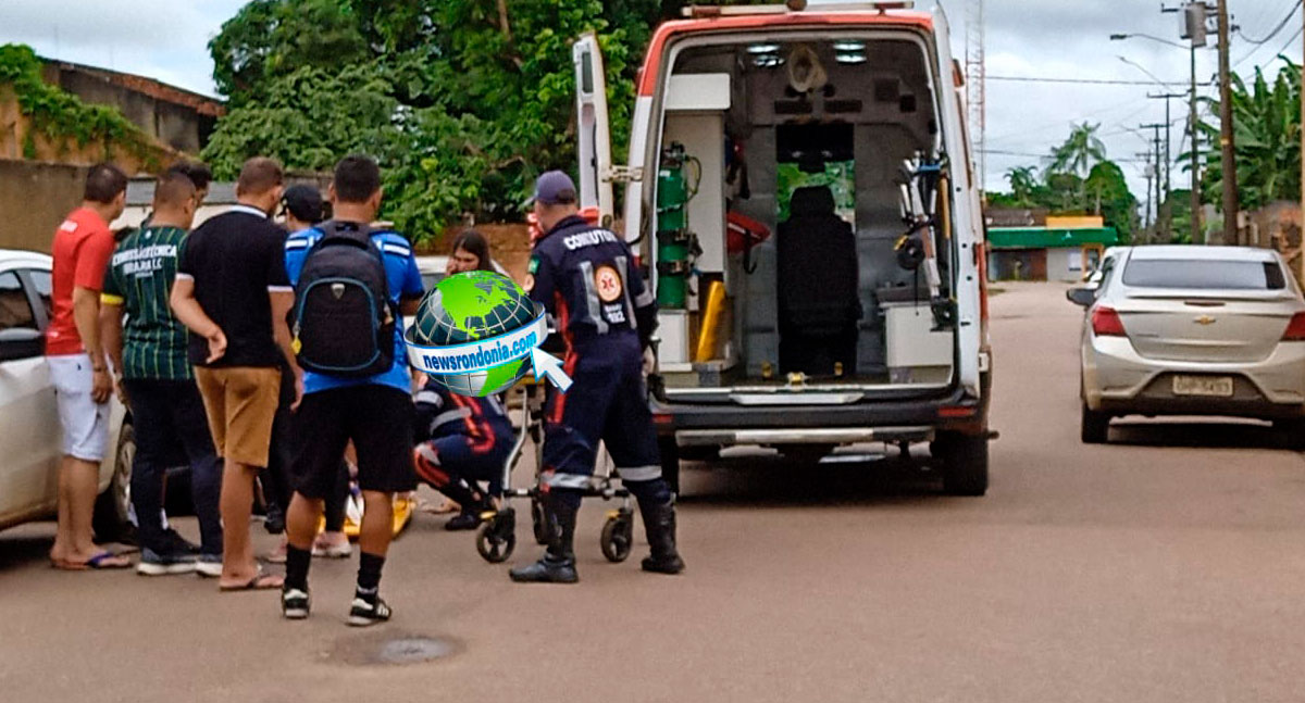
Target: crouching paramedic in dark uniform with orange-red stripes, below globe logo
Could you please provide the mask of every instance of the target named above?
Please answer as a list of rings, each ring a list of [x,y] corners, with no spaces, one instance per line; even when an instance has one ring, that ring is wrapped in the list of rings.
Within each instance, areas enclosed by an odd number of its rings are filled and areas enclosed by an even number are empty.
[[[445,530],[475,530],[480,514],[493,510],[492,498],[502,494],[504,464],[515,441],[502,400],[428,383],[415,402],[418,477],[462,506]],[[480,483],[488,484],[488,494]]]

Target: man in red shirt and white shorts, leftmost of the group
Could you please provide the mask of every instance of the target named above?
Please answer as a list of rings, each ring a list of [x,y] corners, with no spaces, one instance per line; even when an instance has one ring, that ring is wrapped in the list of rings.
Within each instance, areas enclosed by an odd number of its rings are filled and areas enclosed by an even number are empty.
[[[108,398],[114,381],[99,343],[99,293],[114,253],[108,223],[123,214],[127,176],[110,164],[86,175],[82,205],[55,231],[54,313],[46,357],[63,428],[59,467],[59,532],[50,561],[60,569],[123,569],[130,562],[95,545],[91,514],[99,464],[108,447]]]

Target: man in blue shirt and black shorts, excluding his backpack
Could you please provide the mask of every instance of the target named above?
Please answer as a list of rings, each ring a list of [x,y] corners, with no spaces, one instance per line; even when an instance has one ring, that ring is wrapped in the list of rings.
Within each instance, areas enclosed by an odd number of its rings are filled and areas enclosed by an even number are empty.
[[[330,187],[338,231],[365,228],[381,205],[381,172],[367,157],[347,157],[335,167]],[[304,261],[321,239],[311,228],[286,240],[286,273],[298,284]],[[422,274],[412,248],[393,231],[371,232],[385,261],[392,301],[403,314],[415,314],[422,299]],[[358,483],[365,510],[359,533],[360,565],[350,625],[385,622],[390,608],[378,597],[381,567],[393,536],[393,498],[416,488],[412,470],[412,382],[407,370],[402,325],[394,326],[394,363],[369,378],[339,378],[304,373],[304,398],[295,411],[291,464],[295,496],[286,516],[286,586],[282,614],[308,617],[308,566],[324,498],[333,489],[345,446],[358,453]]]

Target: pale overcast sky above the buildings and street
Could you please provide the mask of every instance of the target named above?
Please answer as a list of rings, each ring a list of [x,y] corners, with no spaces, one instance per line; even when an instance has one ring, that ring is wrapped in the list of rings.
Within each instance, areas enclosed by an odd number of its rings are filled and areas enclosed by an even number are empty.
[[[933,0],[920,0],[930,7]],[[1249,76],[1285,51],[1300,61],[1302,20],[1291,22],[1265,44],[1262,39],[1298,0],[1229,0],[1242,35],[1232,42],[1232,61]],[[43,56],[141,73],[198,93],[213,94],[207,42],[243,0],[0,0],[0,43],[22,42]],[[987,0],[988,50],[988,187],[1004,187],[1013,166],[1040,166],[1043,154],[1065,138],[1075,121],[1100,123],[1108,155],[1121,162],[1134,193],[1146,200],[1143,159],[1150,136],[1142,124],[1164,121],[1159,85],[1071,85],[1017,82],[1002,77],[1078,78],[1101,81],[1172,81],[1171,93],[1186,90],[1188,52],[1147,39],[1111,42],[1113,33],[1144,33],[1178,42],[1176,14],[1161,14],[1159,0]],[[1177,4],[1176,1],[1171,4]],[[953,22],[953,44],[964,57],[966,0],[942,0]],[[1212,43],[1212,42],[1211,42]],[[1146,70],[1118,57],[1141,64]],[[1198,50],[1197,76],[1206,82],[1218,70],[1215,52]],[[1202,89],[1208,94],[1212,89]],[[1185,104],[1174,100],[1172,154],[1177,157]],[[1174,184],[1186,175],[1174,168]]]

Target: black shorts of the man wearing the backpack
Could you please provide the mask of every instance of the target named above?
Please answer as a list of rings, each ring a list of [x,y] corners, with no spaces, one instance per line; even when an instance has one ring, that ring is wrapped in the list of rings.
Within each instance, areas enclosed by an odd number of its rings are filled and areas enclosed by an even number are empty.
[[[358,451],[363,490],[402,493],[416,488],[412,470],[412,396],[364,385],[304,395],[295,411],[291,480],[308,498],[330,494],[345,446]]]

